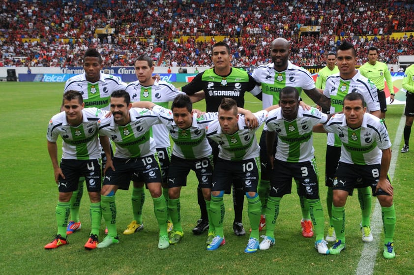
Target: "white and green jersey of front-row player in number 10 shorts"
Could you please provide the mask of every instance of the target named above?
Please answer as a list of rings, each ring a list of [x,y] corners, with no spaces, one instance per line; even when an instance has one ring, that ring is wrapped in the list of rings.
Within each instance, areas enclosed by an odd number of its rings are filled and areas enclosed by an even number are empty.
[[[262,110],[254,113],[262,125],[266,120],[267,111]],[[244,116],[240,115],[238,118],[238,130],[228,135],[221,131],[218,120],[214,120],[207,125],[207,137],[218,143],[220,152],[218,157],[227,160],[246,160],[258,157],[260,153],[260,146],[256,140],[256,130],[249,129],[244,122]]]

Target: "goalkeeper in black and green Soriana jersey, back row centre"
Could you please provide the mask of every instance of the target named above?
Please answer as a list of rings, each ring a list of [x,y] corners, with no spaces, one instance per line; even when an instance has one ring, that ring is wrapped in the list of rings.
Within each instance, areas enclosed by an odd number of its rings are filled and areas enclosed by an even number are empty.
[[[230,47],[224,42],[217,42],[212,47],[213,68],[207,69],[196,77],[187,85],[181,87],[181,91],[192,95],[198,93],[202,98],[206,99],[207,112],[217,112],[218,106],[224,97],[233,98],[237,102],[237,106],[244,107],[244,93],[250,91],[257,98],[261,98],[260,89],[256,88],[256,82],[245,71],[231,67]],[[217,144],[210,141],[213,149],[214,158],[217,158]],[[227,190],[229,191],[231,187]],[[242,224],[242,211],[244,201],[244,190],[242,183],[235,182],[233,184],[233,202],[235,208],[235,219],[233,222],[233,230],[237,236],[246,234]],[[201,219],[197,226],[193,229],[194,234],[201,234],[208,228],[208,217],[206,205],[204,203],[201,189],[198,189],[198,203],[201,210]]]

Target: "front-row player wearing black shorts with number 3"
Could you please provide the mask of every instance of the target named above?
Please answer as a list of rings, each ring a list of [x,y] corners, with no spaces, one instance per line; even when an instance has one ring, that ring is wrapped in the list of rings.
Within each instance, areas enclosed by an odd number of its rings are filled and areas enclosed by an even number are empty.
[[[266,118],[267,155],[271,167],[270,194],[266,204],[266,236],[260,250],[275,243],[274,228],[279,215],[280,200],[292,190],[292,178],[298,185],[299,196],[309,205],[309,213],[316,233],[315,248],[329,254],[324,240],[324,212],[319,198],[319,181],[314,156],[312,128],[328,118],[318,109],[299,108],[299,93],[294,87],[280,91],[280,108],[270,111]],[[275,136],[276,155],[273,153]]]

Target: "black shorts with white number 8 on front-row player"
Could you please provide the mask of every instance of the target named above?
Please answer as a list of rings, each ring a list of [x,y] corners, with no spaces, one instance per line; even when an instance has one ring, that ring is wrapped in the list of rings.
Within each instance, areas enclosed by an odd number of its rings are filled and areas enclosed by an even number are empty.
[[[380,178],[380,169],[380,164],[356,165],[339,162],[332,189],[347,191],[349,195],[352,196],[354,188],[371,186],[373,196],[389,195],[382,189],[379,189],[378,192],[375,192],[378,180]]]

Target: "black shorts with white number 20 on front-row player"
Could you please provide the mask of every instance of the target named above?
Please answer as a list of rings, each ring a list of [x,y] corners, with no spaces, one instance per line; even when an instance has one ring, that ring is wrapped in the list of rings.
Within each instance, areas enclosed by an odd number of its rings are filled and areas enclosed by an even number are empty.
[[[187,176],[190,170],[196,173],[201,188],[211,188],[213,177],[213,156],[200,159],[183,159],[171,156],[170,171],[168,173],[168,188],[187,186]]]

